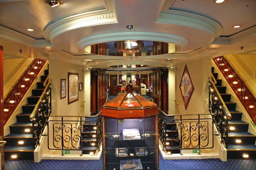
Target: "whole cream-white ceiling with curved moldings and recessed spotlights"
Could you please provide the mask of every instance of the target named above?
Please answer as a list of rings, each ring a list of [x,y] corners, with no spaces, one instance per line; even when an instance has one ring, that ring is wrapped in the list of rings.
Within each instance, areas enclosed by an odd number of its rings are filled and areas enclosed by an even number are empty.
[[[0,45],[6,58],[38,57],[101,68],[122,64],[163,67],[256,50],[256,0],[221,4],[213,0],[62,1],[52,8],[44,0],[0,0]],[[134,26],[131,32],[125,27],[128,24]],[[234,25],[242,27],[235,29]],[[162,40],[181,49],[132,60],[83,51],[91,44],[121,39]]]

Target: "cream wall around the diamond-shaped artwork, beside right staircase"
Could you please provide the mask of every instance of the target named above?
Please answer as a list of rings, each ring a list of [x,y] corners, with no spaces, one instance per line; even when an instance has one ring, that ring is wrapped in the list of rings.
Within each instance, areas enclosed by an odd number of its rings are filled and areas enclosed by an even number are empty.
[[[187,69],[194,85],[194,91],[188,103],[187,109],[185,109],[181,91],[180,82],[182,74],[187,65]],[[209,82],[208,77],[211,76],[211,59],[199,59],[189,61],[187,63],[177,65],[175,73],[175,98],[179,104],[180,114],[207,114],[209,113],[208,101],[209,101]]]

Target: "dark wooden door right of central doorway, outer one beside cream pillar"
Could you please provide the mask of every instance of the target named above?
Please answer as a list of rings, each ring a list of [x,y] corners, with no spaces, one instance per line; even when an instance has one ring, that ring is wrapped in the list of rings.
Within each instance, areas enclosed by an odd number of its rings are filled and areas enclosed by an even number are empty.
[[[167,113],[168,112],[168,69],[162,69],[162,111]]]

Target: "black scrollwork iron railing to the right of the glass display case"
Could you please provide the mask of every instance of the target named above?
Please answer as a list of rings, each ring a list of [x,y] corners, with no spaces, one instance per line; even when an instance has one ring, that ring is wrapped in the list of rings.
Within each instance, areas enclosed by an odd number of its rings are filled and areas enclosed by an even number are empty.
[[[159,109],[158,132],[163,150],[168,149],[167,146],[178,150],[213,148],[213,119],[210,115],[166,115]]]

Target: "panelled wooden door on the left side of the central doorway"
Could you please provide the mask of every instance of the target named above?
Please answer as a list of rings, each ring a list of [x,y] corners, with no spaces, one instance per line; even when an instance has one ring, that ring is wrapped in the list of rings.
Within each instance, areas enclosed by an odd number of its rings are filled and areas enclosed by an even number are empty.
[[[98,71],[98,113],[106,102],[106,72]]]

